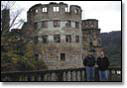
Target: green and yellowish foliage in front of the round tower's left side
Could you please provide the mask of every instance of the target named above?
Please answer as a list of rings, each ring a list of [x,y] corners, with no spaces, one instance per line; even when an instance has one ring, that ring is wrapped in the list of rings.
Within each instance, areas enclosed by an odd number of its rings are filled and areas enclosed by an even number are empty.
[[[1,71],[30,71],[47,69],[43,60],[35,60],[34,44],[20,40],[21,36],[8,33],[1,36]]]

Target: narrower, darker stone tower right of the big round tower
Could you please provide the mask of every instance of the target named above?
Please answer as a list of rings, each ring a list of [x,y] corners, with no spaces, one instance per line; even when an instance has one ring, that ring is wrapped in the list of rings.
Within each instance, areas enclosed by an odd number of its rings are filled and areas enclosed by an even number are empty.
[[[89,52],[93,52],[95,56],[99,56],[101,39],[98,20],[82,20],[82,36],[83,56],[86,56]]]

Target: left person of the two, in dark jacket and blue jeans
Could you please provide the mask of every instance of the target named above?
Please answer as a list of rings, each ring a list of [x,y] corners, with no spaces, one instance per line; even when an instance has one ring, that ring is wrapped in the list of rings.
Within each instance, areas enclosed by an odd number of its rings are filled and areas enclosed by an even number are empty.
[[[94,81],[95,78],[95,57],[90,53],[84,60],[83,64],[86,68],[87,81]]]

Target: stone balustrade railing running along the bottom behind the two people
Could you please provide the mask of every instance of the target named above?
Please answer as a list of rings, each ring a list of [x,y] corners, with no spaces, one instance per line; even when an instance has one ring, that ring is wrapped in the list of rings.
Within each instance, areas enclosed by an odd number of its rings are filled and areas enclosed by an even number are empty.
[[[1,81],[86,81],[85,68],[25,71],[25,72],[1,72]],[[99,81],[98,69],[95,69],[95,81]],[[109,68],[108,81],[122,81],[120,67]]]

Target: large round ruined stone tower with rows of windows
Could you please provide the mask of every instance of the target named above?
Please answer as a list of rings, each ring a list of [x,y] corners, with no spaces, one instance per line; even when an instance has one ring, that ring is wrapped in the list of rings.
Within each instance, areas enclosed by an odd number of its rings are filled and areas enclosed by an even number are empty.
[[[39,59],[48,69],[82,67],[80,6],[65,3],[36,4],[27,12],[24,29],[31,29],[39,46]]]

